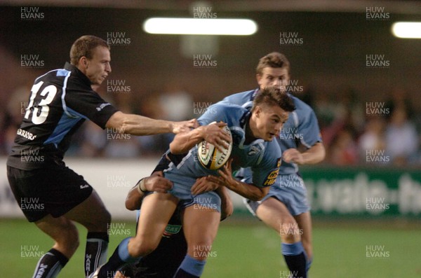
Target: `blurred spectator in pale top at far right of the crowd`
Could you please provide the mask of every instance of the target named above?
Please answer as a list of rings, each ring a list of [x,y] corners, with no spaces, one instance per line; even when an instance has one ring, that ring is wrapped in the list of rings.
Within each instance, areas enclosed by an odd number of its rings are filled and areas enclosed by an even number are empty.
[[[415,159],[418,137],[415,125],[408,120],[408,112],[403,105],[396,106],[386,129],[386,153],[394,165],[406,165]]]

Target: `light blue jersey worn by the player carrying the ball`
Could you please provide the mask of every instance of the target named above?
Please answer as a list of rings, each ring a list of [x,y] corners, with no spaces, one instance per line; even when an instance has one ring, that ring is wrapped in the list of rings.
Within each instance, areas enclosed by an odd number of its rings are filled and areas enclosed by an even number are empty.
[[[281,162],[281,148],[275,140],[264,141],[256,139],[248,145],[246,140],[246,125],[250,111],[234,104],[213,104],[198,119],[200,125],[208,125],[213,122],[227,123],[232,133],[232,171],[240,167],[250,167],[253,172],[253,185],[258,187],[271,186],[279,172]],[[185,181],[192,181],[208,174],[216,175],[216,170],[203,167],[197,158],[197,146],[194,146],[177,166],[172,162],[165,170],[169,176],[175,174],[184,177]]]

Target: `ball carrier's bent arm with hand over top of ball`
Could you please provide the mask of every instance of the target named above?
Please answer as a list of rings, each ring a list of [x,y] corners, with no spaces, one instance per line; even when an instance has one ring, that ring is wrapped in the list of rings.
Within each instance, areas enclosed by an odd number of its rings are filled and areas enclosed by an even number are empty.
[[[170,144],[170,151],[173,154],[187,153],[190,148],[199,142],[206,140],[213,144],[220,151],[228,148],[227,142],[231,142],[231,137],[220,127],[224,127],[226,123],[214,123],[211,125],[201,125],[189,132],[180,132],[175,135]]]

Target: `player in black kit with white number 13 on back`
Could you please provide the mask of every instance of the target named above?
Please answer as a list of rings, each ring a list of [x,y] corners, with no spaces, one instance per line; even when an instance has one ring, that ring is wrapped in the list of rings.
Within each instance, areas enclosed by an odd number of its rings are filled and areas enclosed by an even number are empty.
[[[56,277],[79,246],[72,221],[88,229],[85,273],[107,259],[111,216],[91,185],[66,167],[63,157],[72,134],[84,120],[102,129],[133,135],[183,132],[196,120],[171,122],[126,114],[105,102],[91,86],[111,73],[109,45],[96,36],[81,36],[70,50],[70,63],[35,79],[29,105],[17,131],[7,174],[15,199],[29,222],[52,237],[53,248],[39,259],[33,277]],[[215,130],[206,140],[219,146]]]

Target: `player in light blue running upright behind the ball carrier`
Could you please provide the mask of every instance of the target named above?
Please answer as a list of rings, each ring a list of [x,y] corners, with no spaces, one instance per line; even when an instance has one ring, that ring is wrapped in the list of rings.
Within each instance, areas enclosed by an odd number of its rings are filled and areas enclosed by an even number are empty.
[[[281,249],[293,277],[307,277],[312,263],[312,218],[307,190],[298,167],[321,162],[325,157],[319,123],[313,109],[288,93],[290,63],[281,53],[269,53],[258,63],[259,88],[225,97],[222,103],[250,108],[262,90],[276,88],[293,99],[295,111],[276,138],[282,151],[279,176],[269,193],[259,201],[246,200],[248,209],[281,235]],[[254,174],[254,173],[253,173]],[[249,181],[252,173],[242,169],[239,177]]]

